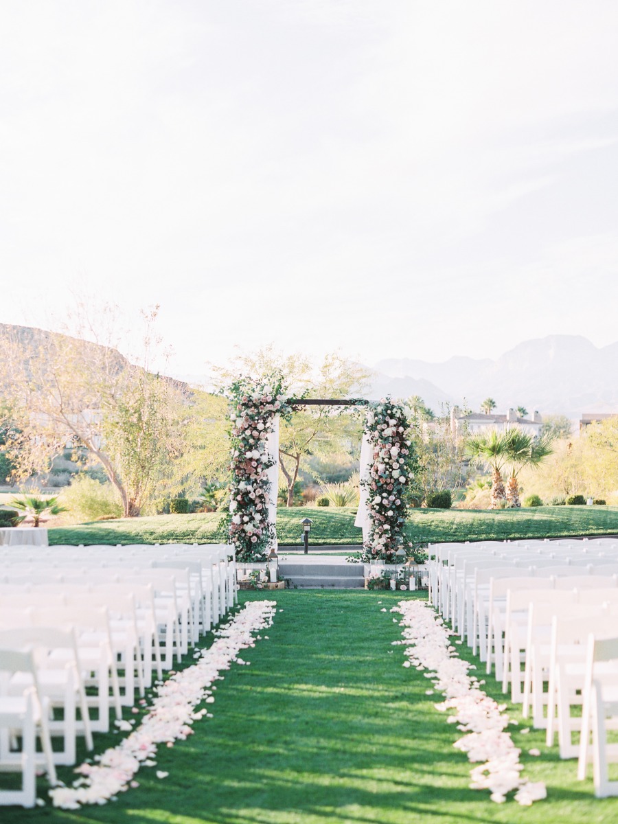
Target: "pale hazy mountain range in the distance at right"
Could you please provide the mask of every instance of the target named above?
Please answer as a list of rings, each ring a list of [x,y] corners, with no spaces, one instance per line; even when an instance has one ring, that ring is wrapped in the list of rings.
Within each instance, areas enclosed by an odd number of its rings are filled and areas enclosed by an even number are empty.
[[[453,357],[428,363],[389,358],[374,368],[380,385],[389,377],[402,389],[425,382],[426,396],[415,388],[402,395],[420,395],[430,407],[432,396],[460,404],[465,398],[473,409],[492,397],[499,410],[523,405],[529,412],[569,418],[582,412],[618,413],[618,343],[598,349],[580,335],[526,340],[497,360]]]

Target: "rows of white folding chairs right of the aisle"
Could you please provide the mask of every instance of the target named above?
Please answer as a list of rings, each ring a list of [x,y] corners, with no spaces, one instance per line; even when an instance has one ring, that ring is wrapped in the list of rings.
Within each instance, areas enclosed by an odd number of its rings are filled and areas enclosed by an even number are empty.
[[[618,728],[618,552],[615,539],[586,543],[435,547],[430,578],[434,605],[546,728],[547,745],[557,733],[560,757],[578,757],[579,778],[592,760],[605,796],[618,794],[608,780],[618,747],[606,742]]]

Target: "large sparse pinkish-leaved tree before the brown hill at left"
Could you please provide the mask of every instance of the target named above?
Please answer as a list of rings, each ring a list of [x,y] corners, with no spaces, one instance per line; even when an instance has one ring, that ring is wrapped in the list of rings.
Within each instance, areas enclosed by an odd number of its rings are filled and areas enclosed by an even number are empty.
[[[20,410],[10,452],[16,474],[48,470],[68,443],[85,447],[118,490],[124,516],[133,517],[174,474],[187,387],[150,371],[160,343],[152,331],[157,310],[143,315],[139,365],[119,353],[118,316],[117,307],[102,307],[95,324],[80,306],[77,336],[26,330],[19,339],[5,332],[1,382]]]

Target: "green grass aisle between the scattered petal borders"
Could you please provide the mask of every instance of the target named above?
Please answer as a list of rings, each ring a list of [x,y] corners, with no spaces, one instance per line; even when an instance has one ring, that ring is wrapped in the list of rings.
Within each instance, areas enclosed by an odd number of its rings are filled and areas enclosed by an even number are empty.
[[[405,669],[400,627],[382,606],[391,592],[269,593],[279,608],[269,640],[242,653],[218,684],[214,718],[172,749],[160,748],[157,780],[104,807],[63,812],[3,808],[2,824],[581,824],[616,822],[618,798],[597,800],[574,761],[546,751],[544,733],[514,730],[530,780],[549,798],[532,808],[494,804],[471,790],[459,733],[426,695],[423,672]],[[243,600],[263,593],[241,593]],[[489,690],[502,698],[495,689]],[[517,718],[518,716],[515,715]],[[522,724],[523,726],[523,724]],[[101,751],[118,736],[97,736]],[[531,747],[541,757],[528,756]],[[71,780],[70,770],[61,770]]]

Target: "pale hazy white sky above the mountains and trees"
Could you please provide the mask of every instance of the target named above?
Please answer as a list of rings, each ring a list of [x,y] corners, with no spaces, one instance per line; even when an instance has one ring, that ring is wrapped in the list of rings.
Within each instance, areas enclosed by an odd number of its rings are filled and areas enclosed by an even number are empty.
[[[0,321],[379,358],[618,339],[615,0],[2,0]]]

